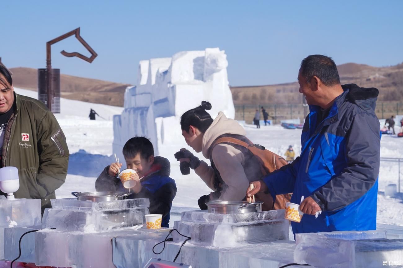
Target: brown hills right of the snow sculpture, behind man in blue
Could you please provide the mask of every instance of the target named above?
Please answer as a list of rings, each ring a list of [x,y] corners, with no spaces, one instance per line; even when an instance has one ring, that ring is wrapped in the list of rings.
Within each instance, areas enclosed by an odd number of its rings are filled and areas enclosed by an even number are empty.
[[[380,101],[403,101],[403,63],[389,67],[346,63],[337,66],[342,84],[355,83],[360,87],[379,89]],[[301,103],[297,82],[230,87],[235,104]]]

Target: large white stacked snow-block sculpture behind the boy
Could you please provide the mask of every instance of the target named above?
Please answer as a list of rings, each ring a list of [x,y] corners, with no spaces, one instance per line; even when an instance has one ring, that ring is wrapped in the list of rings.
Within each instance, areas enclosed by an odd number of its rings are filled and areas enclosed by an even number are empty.
[[[123,145],[134,136],[150,138],[156,155],[164,146],[185,147],[180,117],[204,100],[213,118],[219,111],[234,118],[227,66],[219,48],[140,61],[137,86],[126,89],[124,110],[114,116],[113,151],[123,159]]]

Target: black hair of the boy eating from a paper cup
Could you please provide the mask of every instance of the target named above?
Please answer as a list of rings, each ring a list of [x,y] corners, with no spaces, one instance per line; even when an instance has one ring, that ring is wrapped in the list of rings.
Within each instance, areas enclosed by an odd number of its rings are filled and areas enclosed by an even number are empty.
[[[154,155],[154,147],[149,139],[134,137],[125,143],[125,146],[123,146],[123,156],[125,158],[135,158],[137,154],[140,154],[140,157],[145,159]]]

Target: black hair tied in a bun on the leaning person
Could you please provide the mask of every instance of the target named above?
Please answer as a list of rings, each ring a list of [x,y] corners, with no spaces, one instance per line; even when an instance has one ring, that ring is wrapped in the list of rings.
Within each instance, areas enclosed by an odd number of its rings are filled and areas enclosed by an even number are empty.
[[[208,101],[202,101],[202,105],[190,109],[181,116],[181,128],[186,132],[189,132],[189,127],[194,126],[198,128],[202,133],[210,127],[214,121],[211,115],[206,111],[211,109],[211,103]]]

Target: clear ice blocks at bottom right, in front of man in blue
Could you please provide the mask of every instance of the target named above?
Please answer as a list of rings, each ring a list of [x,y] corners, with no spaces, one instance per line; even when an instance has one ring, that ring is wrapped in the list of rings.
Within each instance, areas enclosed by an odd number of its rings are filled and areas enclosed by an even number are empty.
[[[382,266],[382,258],[388,260],[388,258],[403,256],[402,240],[389,240],[385,237],[385,231],[297,234],[294,260],[297,263],[307,263],[316,267]]]

